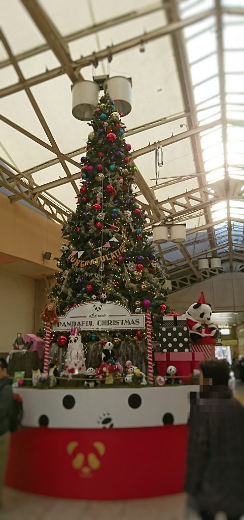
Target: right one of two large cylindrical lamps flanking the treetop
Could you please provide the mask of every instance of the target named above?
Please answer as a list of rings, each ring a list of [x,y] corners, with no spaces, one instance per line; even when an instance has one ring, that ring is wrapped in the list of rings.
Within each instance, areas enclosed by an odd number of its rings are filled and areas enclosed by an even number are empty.
[[[123,112],[123,115],[131,111],[131,87],[131,78],[124,76],[109,77],[103,84],[104,90],[107,90],[113,99],[116,110]]]

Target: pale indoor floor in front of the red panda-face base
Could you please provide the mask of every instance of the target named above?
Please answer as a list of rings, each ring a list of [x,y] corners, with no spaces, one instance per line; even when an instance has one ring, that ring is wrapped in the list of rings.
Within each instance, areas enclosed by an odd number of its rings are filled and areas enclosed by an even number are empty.
[[[237,382],[236,393],[244,402],[244,383]],[[20,475],[21,478],[21,475]],[[144,500],[98,502],[63,500],[29,495],[5,488],[1,520],[184,520],[185,495]],[[193,519],[191,519],[193,520]],[[217,519],[216,519],[217,520]],[[225,520],[219,515],[218,520]]]

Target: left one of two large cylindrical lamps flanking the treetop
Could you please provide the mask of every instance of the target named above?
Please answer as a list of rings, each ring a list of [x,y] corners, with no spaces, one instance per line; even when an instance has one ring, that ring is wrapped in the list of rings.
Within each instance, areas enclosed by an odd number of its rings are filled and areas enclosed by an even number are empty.
[[[99,86],[93,81],[77,81],[72,89],[72,114],[80,121],[90,121],[98,104]]]

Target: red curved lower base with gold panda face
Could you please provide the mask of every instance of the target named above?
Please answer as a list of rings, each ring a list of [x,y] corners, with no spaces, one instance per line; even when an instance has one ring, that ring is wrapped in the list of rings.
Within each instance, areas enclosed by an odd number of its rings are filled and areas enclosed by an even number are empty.
[[[49,497],[120,500],[183,490],[188,428],[58,430],[12,435],[7,486]]]

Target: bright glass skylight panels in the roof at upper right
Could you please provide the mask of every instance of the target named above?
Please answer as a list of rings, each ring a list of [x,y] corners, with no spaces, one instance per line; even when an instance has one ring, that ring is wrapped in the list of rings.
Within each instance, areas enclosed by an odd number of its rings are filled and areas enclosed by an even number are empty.
[[[243,0],[222,0],[221,6],[243,8]],[[182,18],[213,8],[218,11],[218,2],[215,0],[179,2]],[[209,184],[228,177],[244,180],[244,23],[242,16],[228,12],[221,15],[224,59],[222,77],[217,16],[215,12],[213,16],[184,29],[198,123],[202,125],[216,121],[216,126],[200,134]],[[243,243],[243,223],[238,221],[244,219],[244,202],[222,201],[214,204],[211,212],[214,222],[230,218],[233,243]],[[214,233],[217,246],[228,243],[227,222],[215,225]],[[218,251],[221,253],[227,250],[224,248]]]

